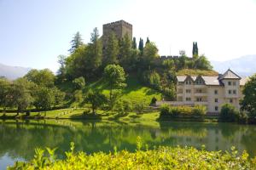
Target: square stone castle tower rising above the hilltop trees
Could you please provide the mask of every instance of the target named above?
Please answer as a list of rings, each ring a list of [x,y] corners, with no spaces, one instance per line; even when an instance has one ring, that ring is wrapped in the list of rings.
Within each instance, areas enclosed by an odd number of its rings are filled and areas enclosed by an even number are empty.
[[[125,37],[125,34],[128,34],[128,36],[132,39],[132,25],[128,22],[125,22],[125,20],[104,24],[102,35],[103,48],[106,47],[106,44],[108,43],[108,37],[111,32],[113,32],[118,39]]]

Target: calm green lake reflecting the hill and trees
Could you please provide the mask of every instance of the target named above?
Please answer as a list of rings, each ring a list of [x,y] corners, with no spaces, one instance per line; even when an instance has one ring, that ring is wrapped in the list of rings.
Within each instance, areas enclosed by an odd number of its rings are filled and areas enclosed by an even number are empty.
[[[72,122],[72,121],[1,121],[0,169],[17,160],[30,160],[37,147],[58,147],[56,154],[62,158],[64,151],[74,142],[76,150],[87,153],[136,149],[137,136],[149,147],[154,145],[189,145],[207,150],[247,150],[256,156],[256,126],[231,123],[204,122]]]

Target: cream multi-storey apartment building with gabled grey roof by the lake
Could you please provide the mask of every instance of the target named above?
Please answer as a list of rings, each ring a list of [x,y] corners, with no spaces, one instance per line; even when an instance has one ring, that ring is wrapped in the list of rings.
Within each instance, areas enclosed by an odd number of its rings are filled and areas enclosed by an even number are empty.
[[[219,113],[224,103],[240,109],[245,82],[247,78],[239,77],[230,69],[218,77],[177,76],[177,101],[172,105],[206,105],[208,113]]]

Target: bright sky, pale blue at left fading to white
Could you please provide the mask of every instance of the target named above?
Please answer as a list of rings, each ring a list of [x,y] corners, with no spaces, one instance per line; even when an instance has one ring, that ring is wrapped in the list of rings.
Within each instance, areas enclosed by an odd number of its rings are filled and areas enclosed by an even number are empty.
[[[193,42],[210,60],[256,54],[256,0],[0,0],[0,63],[57,71],[74,33],[87,43],[117,20],[160,55],[191,56]]]

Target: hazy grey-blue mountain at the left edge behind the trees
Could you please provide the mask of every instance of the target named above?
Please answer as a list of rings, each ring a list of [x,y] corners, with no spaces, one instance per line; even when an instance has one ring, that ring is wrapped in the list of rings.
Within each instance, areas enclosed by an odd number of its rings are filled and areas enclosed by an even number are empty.
[[[23,77],[30,70],[31,68],[0,64],[0,77],[15,80],[16,78]]]

